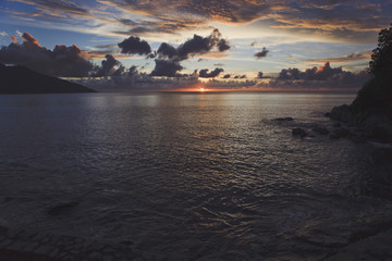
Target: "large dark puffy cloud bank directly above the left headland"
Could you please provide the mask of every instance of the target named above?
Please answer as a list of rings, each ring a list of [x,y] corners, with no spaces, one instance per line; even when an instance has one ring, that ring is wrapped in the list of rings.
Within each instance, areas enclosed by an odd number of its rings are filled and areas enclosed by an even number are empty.
[[[88,76],[94,69],[88,53],[77,46],[58,45],[53,50],[41,47],[30,34],[21,36],[22,44],[11,42],[0,49],[0,63],[24,65],[52,76]],[[15,37],[12,38],[16,40]]]

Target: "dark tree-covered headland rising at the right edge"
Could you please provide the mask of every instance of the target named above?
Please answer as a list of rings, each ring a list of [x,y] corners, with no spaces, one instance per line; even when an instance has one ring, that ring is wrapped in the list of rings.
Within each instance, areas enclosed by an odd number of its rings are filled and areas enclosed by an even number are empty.
[[[328,115],[356,127],[364,140],[392,144],[392,26],[379,33],[368,71],[372,78],[353,103],[335,107]]]

